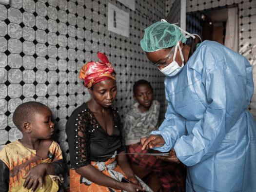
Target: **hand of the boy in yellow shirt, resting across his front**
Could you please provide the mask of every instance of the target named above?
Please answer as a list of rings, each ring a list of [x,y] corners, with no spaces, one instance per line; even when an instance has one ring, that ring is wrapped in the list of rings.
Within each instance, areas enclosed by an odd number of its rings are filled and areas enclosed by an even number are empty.
[[[27,187],[27,189],[29,190],[33,186],[31,192],[34,192],[39,184],[40,189],[42,189],[44,183],[43,177],[46,173],[47,164],[50,163],[40,163],[39,165],[29,170],[29,172],[26,173],[23,177],[23,179],[25,179],[23,188]]]

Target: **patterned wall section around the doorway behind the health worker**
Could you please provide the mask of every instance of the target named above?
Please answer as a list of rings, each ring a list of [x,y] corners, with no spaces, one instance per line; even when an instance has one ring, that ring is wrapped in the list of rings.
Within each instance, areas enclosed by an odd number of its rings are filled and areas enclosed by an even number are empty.
[[[186,12],[198,12],[201,10],[214,9],[227,5],[238,4],[239,8],[239,48],[249,42],[249,47],[256,45],[256,0],[187,0]],[[246,49],[247,51],[248,49]],[[244,53],[241,53],[244,54]],[[252,63],[255,55],[245,56]],[[256,66],[253,66],[254,84],[256,90]],[[248,110],[256,120],[256,91],[251,100]]]

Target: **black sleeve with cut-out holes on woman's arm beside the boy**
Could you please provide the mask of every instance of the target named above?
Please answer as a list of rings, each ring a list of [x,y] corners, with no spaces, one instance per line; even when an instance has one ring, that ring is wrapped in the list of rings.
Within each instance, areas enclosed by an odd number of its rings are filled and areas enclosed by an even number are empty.
[[[73,114],[66,123],[71,169],[91,163],[90,128],[87,113]]]

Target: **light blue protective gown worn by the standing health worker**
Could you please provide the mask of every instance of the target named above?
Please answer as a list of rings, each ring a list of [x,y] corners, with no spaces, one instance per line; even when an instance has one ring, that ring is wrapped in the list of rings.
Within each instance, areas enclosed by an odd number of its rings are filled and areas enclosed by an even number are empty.
[[[168,107],[159,131],[187,165],[187,192],[256,192],[256,122],[246,109],[254,92],[246,58],[202,42],[174,77],[164,80]]]

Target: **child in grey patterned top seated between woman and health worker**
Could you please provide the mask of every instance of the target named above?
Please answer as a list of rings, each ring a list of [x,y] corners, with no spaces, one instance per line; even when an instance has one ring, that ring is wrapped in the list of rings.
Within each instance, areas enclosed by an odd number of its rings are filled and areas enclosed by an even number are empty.
[[[127,153],[161,153],[153,149],[141,150],[140,138],[158,130],[160,105],[153,100],[153,88],[146,80],[138,80],[133,86],[137,101],[124,117],[123,138]],[[128,154],[128,160],[145,169],[153,170],[161,183],[159,192],[185,192],[186,169],[182,163],[169,163],[156,156]]]

